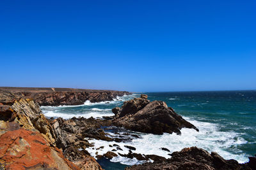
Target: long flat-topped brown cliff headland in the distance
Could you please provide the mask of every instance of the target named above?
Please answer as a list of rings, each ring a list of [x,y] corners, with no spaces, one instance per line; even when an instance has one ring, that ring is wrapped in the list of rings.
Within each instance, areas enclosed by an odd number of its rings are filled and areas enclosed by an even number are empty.
[[[100,101],[113,101],[117,96],[131,94],[125,91],[115,90],[86,90],[86,89],[65,89],[65,88],[12,88],[0,87],[1,93],[8,92],[10,96],[4,99],[13,99],[13,96],[19,98],[33,98],[40,106],[60,106],[60,105],[79,105],[85,101],[92,103]]]

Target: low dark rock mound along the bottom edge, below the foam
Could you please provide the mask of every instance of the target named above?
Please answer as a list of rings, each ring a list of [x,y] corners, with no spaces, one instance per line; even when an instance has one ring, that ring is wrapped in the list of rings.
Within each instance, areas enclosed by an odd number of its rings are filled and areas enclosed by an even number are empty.
[[[216,152],[211,154],[201,148],[184,148],[180,152],[173,152],[172,158],[166,160],[156,160],[153,163],[145,163],[138,166],[125,168],[126,170],[137,169],[253,169],[248,164],[239,164],[236,160],[225,160]]]

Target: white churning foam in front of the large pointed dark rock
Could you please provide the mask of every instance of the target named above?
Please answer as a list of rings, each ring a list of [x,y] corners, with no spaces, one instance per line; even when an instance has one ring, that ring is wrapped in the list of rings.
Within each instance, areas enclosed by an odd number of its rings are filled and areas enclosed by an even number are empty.
[[[116,144],[119,145],[120,148],[122,148],[123,150],[117,150],[116,152],[114,151],[116,154],[118,154],[118,152],[122,154],[127,154],[129,150],[125,148],[124,145],[129,145],[136,148],[134,153],[154,154],[169,158],[170,155],[168,155],[168,153],[180,151],[182,150],[182,148],[197,146],[198,148],[203,148],[208,152],[217,152],[224,159],[236,159],[240,163],[248,161],[247,155],[243,154],[241,150],[237,148],[238,145],[243,145],[247,143],[245,139],[239,137],[238,133],[221,132],[219,131],[218,124],[198,122],[196,120],[191,120],[190,118],[186,118],[186,120],[189,120],[189,122],[194,124],[199,129],[199,132],[196,132],[194,129],[183,128],[181,129],[181,135],[177,135],[174,133],[164,133],[163,135],[135,133],[139,134],[140,138],[134,138],[131,142],[128,143],[116,143],[115,141],[107,142],[92,139],[90,140],[90,142],[95,143],[95,146],[92,148],[86,148],[86,150],[88,150],[88,152],[90,152],[92,156],[95,157],[96,152],[98,152],[98,155],[103,155],[104,153],[111,151],[113,150],[113,148],[115,148],[109,147],[109,145]],[[109,134],[115,136],[114,133],[110,132]],[[95,150],[100,146],[104,146],[104,148],[100,150]],[[168,148],[170,152],[161,150],[161,148]],[[122,164],[130,165],[129,162],[126,162],[126,159],[122,157],[111,159],[111,161],[121,162]],[[134,163],[134,160],[129,161]]]

